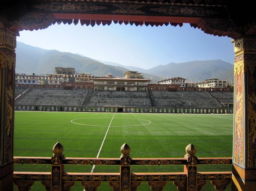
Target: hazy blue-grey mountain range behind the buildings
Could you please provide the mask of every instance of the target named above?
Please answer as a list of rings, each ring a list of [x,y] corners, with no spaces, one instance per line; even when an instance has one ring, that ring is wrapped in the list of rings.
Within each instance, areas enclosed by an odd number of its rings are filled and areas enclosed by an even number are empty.
[[[207,78],[234,81],[234,64],[223,60],[196,60],[186,63],[169,63],[150,69],[124,66],[110,61],[94,60],[89,57],[58,50],[45,50],[17,42],[16,73],[18,74],[53,74],[55,67],[73,67],[75,71],[91,73],[95,76],[113,74],[123,77],[126,71],[138,71],[144,78],[186,78],[187,81],[201,81]]]

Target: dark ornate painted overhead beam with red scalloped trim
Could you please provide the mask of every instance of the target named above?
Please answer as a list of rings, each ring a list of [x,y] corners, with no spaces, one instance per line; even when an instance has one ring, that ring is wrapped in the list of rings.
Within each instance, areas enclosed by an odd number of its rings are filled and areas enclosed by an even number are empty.
[[[0,4],[1,5],[1,4]],[[252,4],[239,4],[240,11]],[[26,0],[2,4],[0,26],[18,32],[47,28],[54,23],[81,25],[182,26],[190,23],[205,33],[229,36],[255,32],[255,15],[244,11],[243,18],[228,0]],[[246,20],[246,25],[243,20]],[[243,25],[241,25],[241,23]]]

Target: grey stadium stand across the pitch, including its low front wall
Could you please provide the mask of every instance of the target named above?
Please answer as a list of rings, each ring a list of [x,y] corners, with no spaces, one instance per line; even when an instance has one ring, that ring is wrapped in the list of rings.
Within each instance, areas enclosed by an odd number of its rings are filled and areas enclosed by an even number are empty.
[[[115,108],[197,108],[207,113],[209,109],[233,112],[233,92],[177,91],[165,90],[99,91],[90,88],[15,88],[16,110],[43,110],[41,106],[51,106],[50,110],[60,111],[105,111],[105,107]],[[54,106],[54,107],[52,107]],[[32,109],[33,108],[33,109]],[[36,108],[36,109],[35,109]],[[151,108],[151,109],[149,109]],[[228,108],[228,110],[223,109]],[[168,109],[168,111],[169,111]],[[129,109],[121,109],[129,112]],[[216,111],[216,110],[214,110]]]

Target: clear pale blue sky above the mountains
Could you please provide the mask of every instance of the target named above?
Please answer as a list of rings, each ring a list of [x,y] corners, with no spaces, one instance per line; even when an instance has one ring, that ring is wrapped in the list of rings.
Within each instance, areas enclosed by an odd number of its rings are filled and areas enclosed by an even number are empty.
[[[234,63],[234,44],[228,37],[207,35],[189,24],[151,27],[112,24],[51,25],[21,31],[18,42],[47,50],[80,53],[95,60],[148,69],[171,62],[220,59]]]

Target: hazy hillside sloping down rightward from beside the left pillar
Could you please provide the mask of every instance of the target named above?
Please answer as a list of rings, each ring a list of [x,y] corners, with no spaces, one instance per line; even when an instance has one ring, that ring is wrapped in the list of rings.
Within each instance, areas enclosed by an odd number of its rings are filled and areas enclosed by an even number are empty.
[[[95,76],[113,74],[123,77],[124,72],[128,71],[127,68],[103,64],[82,55],[44,50],[22,42],[17,42],[16,55],[16,73],[20,74],[52,74],[55,67],[73,67],[76,72],[91,73]],[[154,76],[144,75],[145,78]]]

